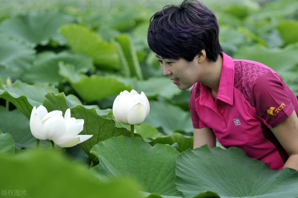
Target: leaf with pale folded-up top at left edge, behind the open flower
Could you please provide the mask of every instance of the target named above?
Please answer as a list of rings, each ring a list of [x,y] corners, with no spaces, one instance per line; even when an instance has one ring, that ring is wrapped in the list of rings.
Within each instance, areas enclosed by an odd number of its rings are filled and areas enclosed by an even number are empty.
[[[59,93],[58,89],[48,85],[28,85],[24,82],[15,81],[12,85],[0,87],[0,97],[13,103],[24,115],[30,119],[34,106],[39,107],[44,101],[46,93]]]

